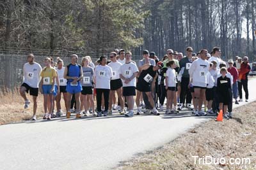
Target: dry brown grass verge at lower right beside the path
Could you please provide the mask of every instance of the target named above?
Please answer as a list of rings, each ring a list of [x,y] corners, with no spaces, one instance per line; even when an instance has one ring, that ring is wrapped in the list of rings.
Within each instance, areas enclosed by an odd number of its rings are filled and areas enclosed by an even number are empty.
[[[256,169],[256,103],[237,108],[232,120],[209,120],[162,148],[115,169]],[[250,158],[250,165],[199,165],[192,156]]]

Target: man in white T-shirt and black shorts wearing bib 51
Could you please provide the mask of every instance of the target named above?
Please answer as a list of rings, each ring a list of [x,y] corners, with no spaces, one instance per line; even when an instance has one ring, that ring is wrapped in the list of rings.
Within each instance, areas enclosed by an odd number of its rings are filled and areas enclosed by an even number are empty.
[[[123,81],[123,95],[127,101],[129,112],[125,114],[127,117],[133,116],[134,98],[136,96],[136,74],[139,72],[134,62],[131,62],[132,53],[125,53],[125,64],[120,67],[120,78]]]

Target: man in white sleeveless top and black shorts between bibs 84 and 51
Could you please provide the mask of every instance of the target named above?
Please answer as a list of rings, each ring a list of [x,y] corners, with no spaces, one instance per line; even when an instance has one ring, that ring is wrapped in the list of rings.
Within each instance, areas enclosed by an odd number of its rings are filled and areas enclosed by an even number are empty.
[[[124,99],[122,97],[122,80],[119,76],[119,69],[122,64],[116,60],[116,52],[109,53],[109,58],[111,62],[109,62],[108,66],[111,67],[113,71],[113,77],[110,80],[110,92],[109,92],[109,108],[108,108],[108,114],[112,114],[112,103],[113,103],[113,97],[115,95],[115,91],[117,92],[117,96],[120,102],[121,110],[120,114],[124,115]]]

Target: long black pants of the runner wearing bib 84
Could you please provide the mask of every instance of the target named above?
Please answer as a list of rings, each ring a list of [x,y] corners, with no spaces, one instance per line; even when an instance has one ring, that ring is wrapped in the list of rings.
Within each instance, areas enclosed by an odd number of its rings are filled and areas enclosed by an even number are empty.
[[[104,96],[105,110],[108,111],[109,89],[96,89],[97,111],[101,111],[102,94]]]

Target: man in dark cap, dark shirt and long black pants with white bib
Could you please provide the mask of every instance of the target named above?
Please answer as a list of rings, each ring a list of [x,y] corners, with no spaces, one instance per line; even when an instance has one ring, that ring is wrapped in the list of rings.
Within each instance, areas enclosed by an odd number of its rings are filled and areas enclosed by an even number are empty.
[[[186,98],[186,107],[191,109],[191,92],[189,92],[189,68],[192,64],[192,53],[193,48],[191,46],[188,46],[186,48],[187,56],[184,57],[179,61],[180,64],[180,73],[181,81],[180,81],[180,103],[178,105],[178,110],[182,110],[183,104],[185,104],[185,98]]]

